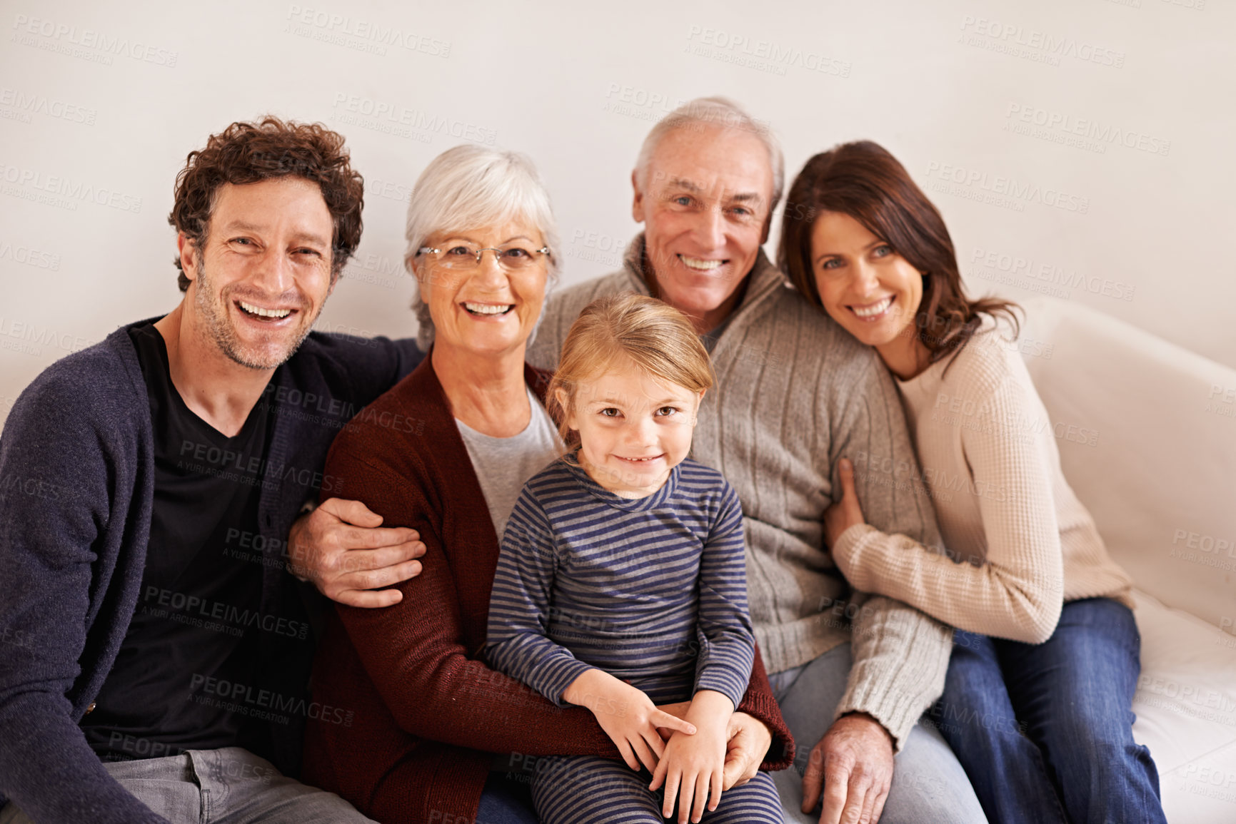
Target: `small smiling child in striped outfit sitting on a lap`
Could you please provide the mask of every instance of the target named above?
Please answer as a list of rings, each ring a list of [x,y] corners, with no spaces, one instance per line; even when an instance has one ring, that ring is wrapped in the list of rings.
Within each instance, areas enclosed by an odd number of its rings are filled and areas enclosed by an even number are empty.
[[[781,822],[766,773],[722,798],[726,728],[755,642],[738,497],[687,457],[712,384],[687,319],[643,295],[593,301],[562,343],[549,409],[569,452],[510,514],[486,655],[550,700],[591,709],[628,768],[541,759],[543,822],[661,822],[676,798],[680,824]],[[682,720],[655,707],[686,700]],[[665,742],[658,728],[676,731]]]

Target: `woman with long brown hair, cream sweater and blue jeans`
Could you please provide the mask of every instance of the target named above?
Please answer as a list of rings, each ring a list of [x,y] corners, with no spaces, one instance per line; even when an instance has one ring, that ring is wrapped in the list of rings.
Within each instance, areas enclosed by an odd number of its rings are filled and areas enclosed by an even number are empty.
[[[1060,472],[1053,427],[995,317],[970,300],[944,222],[870,142],[811,158],[786,205],[779,263],[894,373],[922,465],[890,483],[931,495],[948,555],[873,540],[853,473],[824,515],[860,591],[958,628],[941,733],[993,822],[1163,822],[1158,775],[1133,741],[1141,644],[1130,579]]]

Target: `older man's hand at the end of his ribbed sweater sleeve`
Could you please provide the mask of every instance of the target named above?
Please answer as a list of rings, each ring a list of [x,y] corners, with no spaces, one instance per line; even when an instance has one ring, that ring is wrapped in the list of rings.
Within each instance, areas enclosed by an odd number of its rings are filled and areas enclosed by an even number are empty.
[[[819,824],[874,824],[892,784],[892,736],[866,713],[842,715],[811,751],[802,775],[802,812],[819,801]]]

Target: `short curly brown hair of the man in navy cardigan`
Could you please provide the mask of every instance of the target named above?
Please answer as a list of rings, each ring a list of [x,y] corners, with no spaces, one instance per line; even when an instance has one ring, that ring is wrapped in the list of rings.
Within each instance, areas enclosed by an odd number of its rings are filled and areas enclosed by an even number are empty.
[[[331,283],[361,242],[365,180],[352,170],[344,136],[321,124],[283,121],[268,115],[258,124],[235,122],[211,135],[203,149],[189,152],[176,175],[176,203],[167,222],[199,250],[205,246],[219,188],[294,174],[316,183],[335,225],[331,238]],[[180,258],[180,292],[189,288]]]

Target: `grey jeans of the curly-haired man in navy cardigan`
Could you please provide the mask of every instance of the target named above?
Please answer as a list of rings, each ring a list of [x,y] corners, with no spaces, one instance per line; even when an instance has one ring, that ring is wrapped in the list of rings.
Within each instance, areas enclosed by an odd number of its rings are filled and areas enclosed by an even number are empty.
[[[173,824],[361,824],[365,818],[334,793],[283,776],[239,746],[104,765],[120,786]],[[31,824],[9,804],[0,824]]]

